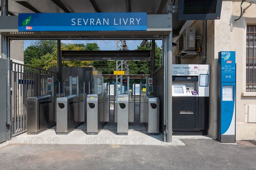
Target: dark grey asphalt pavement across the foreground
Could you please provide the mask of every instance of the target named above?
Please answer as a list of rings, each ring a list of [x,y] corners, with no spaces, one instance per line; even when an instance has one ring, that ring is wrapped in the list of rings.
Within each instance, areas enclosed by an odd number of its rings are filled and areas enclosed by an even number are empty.
[[[0,169],[256,169],[253,144],[244,147],[209,139],[183,141],[187,141],[186,146],[13,144],[1,147]]]

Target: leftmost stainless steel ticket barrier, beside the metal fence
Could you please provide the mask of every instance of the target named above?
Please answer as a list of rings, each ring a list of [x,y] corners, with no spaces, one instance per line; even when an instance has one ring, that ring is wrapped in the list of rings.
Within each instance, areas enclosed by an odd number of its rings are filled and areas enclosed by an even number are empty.
[[[27,98],[27,134],[38,134],[55,125],[54,101],[51,95]]]

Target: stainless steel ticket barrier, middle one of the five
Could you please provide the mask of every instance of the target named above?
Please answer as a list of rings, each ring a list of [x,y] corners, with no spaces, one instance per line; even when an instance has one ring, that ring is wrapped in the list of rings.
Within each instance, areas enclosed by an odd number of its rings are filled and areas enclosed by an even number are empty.
[[[104,98],[102,95],[87,95],[87,134],[97,135],[105,125]]]

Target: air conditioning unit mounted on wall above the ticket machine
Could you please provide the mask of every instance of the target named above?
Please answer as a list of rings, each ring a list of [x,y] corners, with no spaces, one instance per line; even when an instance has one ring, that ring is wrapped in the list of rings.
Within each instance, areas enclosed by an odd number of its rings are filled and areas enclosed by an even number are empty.
[[[179,54],[195,51],[195,28],[186,28],[179,37]]]

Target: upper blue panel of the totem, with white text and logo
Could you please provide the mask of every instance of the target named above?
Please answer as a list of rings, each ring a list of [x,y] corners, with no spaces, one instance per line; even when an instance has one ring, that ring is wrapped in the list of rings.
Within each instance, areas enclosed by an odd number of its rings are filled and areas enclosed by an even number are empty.
[[[236,82],[236,52],[219,52],[221,63],[221,82]]]

